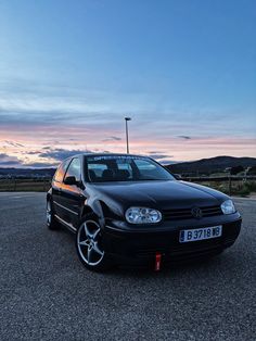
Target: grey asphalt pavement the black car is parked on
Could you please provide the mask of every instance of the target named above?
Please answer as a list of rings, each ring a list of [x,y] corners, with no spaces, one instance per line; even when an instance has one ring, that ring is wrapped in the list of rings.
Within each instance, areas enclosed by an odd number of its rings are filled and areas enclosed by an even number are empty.
[[[87,270],[46,227],[46,193],[0,193],[0,340],[255,340],[256,201],[236,243],[200,264]]]

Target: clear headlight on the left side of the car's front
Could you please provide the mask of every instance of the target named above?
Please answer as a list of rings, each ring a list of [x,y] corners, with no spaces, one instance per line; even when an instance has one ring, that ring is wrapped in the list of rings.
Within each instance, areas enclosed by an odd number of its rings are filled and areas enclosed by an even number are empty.
[[[154,224],[162,220],[162,214],[154,209],[130,207],[126,211],[126,219],[130,224]]]

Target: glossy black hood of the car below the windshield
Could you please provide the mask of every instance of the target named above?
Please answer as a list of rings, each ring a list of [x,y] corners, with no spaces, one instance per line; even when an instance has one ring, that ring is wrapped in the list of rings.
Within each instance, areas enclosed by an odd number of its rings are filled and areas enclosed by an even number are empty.
[[[104,182],[91,186],[99,199],[111,199],[124,209],[135,205],[162,210],[208,206],[218,205],[228,199],[223,193],[208,187],[177,180]]]

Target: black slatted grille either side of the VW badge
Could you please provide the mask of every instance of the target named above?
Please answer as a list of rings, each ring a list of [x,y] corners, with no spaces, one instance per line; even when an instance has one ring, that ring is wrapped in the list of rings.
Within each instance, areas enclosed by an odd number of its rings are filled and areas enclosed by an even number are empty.
[[[199,207],[202,211],[202,217],[212,217],[215,215],[222,215],[220,206],[205,206]],[[191,219],[194,218],[191,209],[172,209],[163,211],[165,220]]]

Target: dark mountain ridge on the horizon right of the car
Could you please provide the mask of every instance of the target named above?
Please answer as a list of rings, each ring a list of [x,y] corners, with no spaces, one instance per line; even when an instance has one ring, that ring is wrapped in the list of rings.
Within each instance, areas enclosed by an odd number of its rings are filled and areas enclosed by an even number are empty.
[[[202,159],[191,162],[182,162],[171,165],[166,165],[166,167],[178,174],[210,174],[223,172],[228,167],[243,166],[252,167],[256,166],[255,157],[234,157],[234,156],[216,156],[210,159]]]

